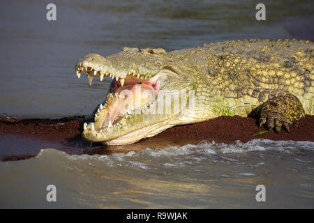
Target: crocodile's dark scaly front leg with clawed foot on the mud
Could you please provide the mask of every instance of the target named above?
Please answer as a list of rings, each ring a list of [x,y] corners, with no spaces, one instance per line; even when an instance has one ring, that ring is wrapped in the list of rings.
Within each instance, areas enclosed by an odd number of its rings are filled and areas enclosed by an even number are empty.
[[[304,108],[299,99],[290,92],[282,91],[276,95],[269,94],[269,98],[261,105],[260,126],[266,123],[269,132],[281,132],[283,126],[287,132],[289,123],[305,116]]]

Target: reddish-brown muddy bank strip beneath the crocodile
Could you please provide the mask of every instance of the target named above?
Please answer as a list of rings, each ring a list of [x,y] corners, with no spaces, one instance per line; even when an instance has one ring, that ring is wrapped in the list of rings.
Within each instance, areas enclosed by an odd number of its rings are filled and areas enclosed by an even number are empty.
[[[202,140],[232,144],[250,139],[314,141],[314,116],[306,116],[290,125],[290,133],[259,132],[254,118],[221,116],[203,123],[178,125],[155,137],[126,146],[90,144],[81,137],[82,125],[87,118],[75,116],[60,119],[0,118],[0,159],[22,160],[34,157],[41,148],[56,148],[68,154],[127,153],[144,148],[166,148],[198,144]],[[260,131],[264,131],[264,127]]]

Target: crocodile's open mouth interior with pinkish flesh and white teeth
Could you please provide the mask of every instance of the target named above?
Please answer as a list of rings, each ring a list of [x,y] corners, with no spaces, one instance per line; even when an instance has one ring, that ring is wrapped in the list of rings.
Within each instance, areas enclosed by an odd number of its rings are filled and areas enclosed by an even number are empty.
[[[110,129],[127,128],[128,116],[140,114],[139,112],[148,109],[160,91],[158,75],[150,77],[128,72],[125,78],[119,78],[110,73],[100,74],[93,68],[78,67],[77,77],[80,78],[82,72],[86,72],[89,84],[96,76],[100,78],[100,81],[103,81],[104,77],[113,78],[106,102],[100,104],[96,110],[94,123],[84,123],[84,131],[104,134]]]

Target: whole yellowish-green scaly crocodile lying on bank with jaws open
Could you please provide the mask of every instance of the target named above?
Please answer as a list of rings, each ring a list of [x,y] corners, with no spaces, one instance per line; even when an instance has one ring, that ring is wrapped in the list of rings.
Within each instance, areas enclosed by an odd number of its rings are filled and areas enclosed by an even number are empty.
[[[313,49],[310,40],[232,40],[172,52],[87,54],[75,65],[77,77],[112,82],[82,137],[132,144],[174,125],[234,115],[290,132],[292,121],[313,114]]]

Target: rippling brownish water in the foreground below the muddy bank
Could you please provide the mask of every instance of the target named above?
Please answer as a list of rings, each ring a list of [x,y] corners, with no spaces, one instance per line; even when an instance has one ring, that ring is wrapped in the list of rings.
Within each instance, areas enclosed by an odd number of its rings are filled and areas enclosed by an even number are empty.
[[[313,208],[314,143],[254,139],[1,162],[1,208]],[[57,202],[46,201],[47,185]],[[255,200],[257,185],[266,202]]]

